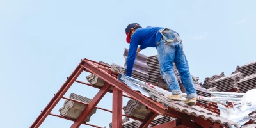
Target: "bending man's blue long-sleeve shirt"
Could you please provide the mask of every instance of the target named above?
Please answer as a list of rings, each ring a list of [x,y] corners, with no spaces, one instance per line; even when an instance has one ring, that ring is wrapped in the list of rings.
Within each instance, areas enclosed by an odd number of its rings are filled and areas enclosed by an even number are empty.
[[[161,27],[138,28],[131,37],[130,48],[127,56],[126,75],[131,77],[138,45],[140,49],[156,47],[157,42],[162,38],[161,33],[157,33]],[[157,33],[157,35],[156,35]]]

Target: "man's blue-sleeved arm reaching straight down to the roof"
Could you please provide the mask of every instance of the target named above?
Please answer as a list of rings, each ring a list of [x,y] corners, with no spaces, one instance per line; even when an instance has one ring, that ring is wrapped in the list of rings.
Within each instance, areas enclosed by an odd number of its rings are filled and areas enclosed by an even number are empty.
[[[133,69],[134,61],[136,59],[137,47],[139,45],[139,38],[136,34],[137,33],[134,33],[132,35],[130,48],[127,56],[126,76],[130,76],[130,77],[132,75],[132,69]]]

